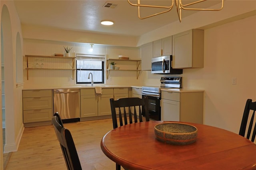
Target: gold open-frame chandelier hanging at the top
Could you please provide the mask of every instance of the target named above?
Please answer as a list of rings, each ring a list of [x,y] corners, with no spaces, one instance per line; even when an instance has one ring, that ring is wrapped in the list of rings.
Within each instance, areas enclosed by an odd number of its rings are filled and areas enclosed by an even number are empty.
[[[130,2],[130,0],[128,0],[130,5],[138,7],[138,18],[140,18],[141,20],[146,19],[146,18],[150,18],[152,16],[156,16],[156,15],[159,15],[159,14],[163,14],[163,13],[169,12],[170,10],[172,10],[172,8],[174,6],[174,2],[175,2],[175,5],[176,5],[176,8],[177,8],[177,13],[178,13],[178,17],[179,17],[180,22],[181,22],[181,10],[182,9],[183,10],[220,11],[220,10],[222,10],[222,8],[224,6],[224,0],[222,0],[222,5],[221,5],[221,7],[219,9],[186,8],[186,7],[190,6],[190,5],[197,4],[197,3],[203,2],[203,1],[206,1],[206,0],[198,0],[198,1],[192,2],[190,4],[182,4],[182,0],[170,0],[170,2],[172,2],[170,4],[170,6],[155,6],[155,5],[143,5],[143,4],[140,4],[140,0],[137,0],[137,4],[132,4]],[[164,10],[162,12],[158,12],[158,13],[152,14],[152,15],[149,15],[149,16],[146,16],[146,17],[141,17],[140,16],[140,7],[164,8],[166,10]]]

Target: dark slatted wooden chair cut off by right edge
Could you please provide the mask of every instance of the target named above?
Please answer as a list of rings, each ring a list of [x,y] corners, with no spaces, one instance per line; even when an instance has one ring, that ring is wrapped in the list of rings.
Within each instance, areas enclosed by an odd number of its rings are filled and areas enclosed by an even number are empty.
[[[248,129],[246,138],[251,140],[252,142],[254,142],[255,135],[256,135],[256,124],[254,120],[255,110],[256,110],[256,102],[252,102],[252,99],[247,99],[245,108],[244,108],[244,114],[242,117],[241,126],[240,126],[240,131],[239,131],[239,135],[245,137],[246,129]],[[252,137],[250,138],[251,135]]]

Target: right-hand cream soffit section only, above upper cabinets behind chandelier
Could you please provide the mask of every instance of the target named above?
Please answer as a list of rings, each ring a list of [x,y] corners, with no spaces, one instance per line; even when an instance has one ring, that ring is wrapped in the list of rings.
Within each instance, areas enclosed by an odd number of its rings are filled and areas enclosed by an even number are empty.
[[[245,8],[246,7],[246,8]],[[212,9],[220,8],[220,4],[211,7]],[[175,9],[172,9],[175,10]],[[184,10],[182,10],[184,11]],[[176,21],[160,27],[151,32],[145,33],[138,39],[137,46],[146,44],[157,39],[175,35],[189,29],[205,28],[208,25],[219,25],[249,15],[256,15],[255,0],[224,0],[224,7],[220,11],[199,11],[186,18],[182,22]],[[178,18],[178,15],[177,15]]]

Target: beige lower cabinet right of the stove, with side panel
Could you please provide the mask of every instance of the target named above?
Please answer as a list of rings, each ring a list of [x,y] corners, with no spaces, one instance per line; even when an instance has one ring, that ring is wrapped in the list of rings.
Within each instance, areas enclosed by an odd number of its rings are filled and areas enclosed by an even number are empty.
[[[203,123],[204,92],[161,92],[161,120]]]

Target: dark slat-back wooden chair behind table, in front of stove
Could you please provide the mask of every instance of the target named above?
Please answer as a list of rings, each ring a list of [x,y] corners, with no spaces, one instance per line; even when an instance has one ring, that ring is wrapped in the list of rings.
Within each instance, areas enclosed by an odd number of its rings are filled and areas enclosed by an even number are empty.
[[[111,107],[111,114],[112,114],[112,122],[113,128],[118,127],[118,119],[116,116],[116,108],[118,108],[118,117],[119,117],[119,125],[127,125],[128,120],[129,123],[138,123],[138,119],[142,122],[142,111],[145,112],[146,121],[149,121],[149,114],[148,114],[148,98],[144,97],[140,98],[121,98],[118,100],[114,100],[113,98],[110,99],[110,107]],[[132,108],[133,107],[133,108]],[[139,115],[137,116],[136,107],[138,108]],[[142,109],[143,107],[143,109]],[[128,113],[126,113],[128,110]],[[123,111],[123,113],[122,113]],[[132,112],[133,111],[133,112]],[[133,119],[132,119],[133,118]],[[123,124],[124,119],[124,124]],[[116,163],[116,170],[120,170],[121,166]]]

